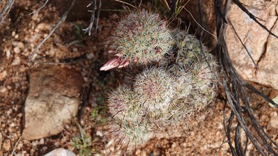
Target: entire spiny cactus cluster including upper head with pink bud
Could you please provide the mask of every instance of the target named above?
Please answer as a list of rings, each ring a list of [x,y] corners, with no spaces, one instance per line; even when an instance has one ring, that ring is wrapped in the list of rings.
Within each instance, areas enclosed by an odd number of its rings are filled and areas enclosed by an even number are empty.
[[[124,17],[113,33],[111,50],[120,62],[110,61],[102,70],[119,68],[124,61],[131,67],[151,63],[140,68],[132,84],[109,93],[109,134],[117,143],[145,143],[165,127],[184,124],[215,97],[217,65],[213,55],[195,36],[170,31],[166,25],[158,15],[137,10]],[[174,60],[161,63],[172,59],[167,58],[171,54]]]

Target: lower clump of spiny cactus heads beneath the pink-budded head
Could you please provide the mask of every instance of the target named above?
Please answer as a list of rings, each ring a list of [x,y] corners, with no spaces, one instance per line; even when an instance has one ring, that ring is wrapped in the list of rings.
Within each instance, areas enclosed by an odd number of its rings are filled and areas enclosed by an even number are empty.
[[[199,65],[199,67],[197,67]],[[214,98],[215,81],[206,63],[169,68],[146,68],[134,79],[133,86],[120,86],[111,93],[108,107],[113,117],[112,137],[118,143],[140,145],[165,127],[177,125],[206,107]],[[207,75],[207,77],[206,77]]]

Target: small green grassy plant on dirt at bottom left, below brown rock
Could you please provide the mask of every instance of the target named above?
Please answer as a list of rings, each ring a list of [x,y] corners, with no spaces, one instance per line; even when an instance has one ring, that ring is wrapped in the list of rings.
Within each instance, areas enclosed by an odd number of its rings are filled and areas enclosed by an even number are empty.
[[[94,149],[92,148],[92,138],[88,137],[85,134],[85,131],[82,129],[81,125],[78,124],[80,137],[74,137],[71,141],[71,145],[79,150],[79,155],[89,156],[92,154],[97,154]]]

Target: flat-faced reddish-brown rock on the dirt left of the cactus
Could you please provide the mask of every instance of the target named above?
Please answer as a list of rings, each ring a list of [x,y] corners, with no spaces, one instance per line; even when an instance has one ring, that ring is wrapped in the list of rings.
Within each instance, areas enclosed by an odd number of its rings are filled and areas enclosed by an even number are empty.
[[[76,116],[83,77],[76,70],[48,65],[35,68],[29,84],[22,137],[33,140],[58,134]]]

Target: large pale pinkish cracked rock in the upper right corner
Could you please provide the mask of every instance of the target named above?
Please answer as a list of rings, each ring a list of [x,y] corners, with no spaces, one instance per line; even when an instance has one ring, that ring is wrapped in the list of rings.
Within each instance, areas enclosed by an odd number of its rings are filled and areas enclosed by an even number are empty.
[[[243,0],[240,2],[253,15],[258,17],[259,22],[270,29],[272,33],[278,35],[277,0]],[[231,61],[238,74],[243,79],[278,89],[278,64],[275,63],[278,58],[277,38],[270,36],[267,31],[250,19],[234,3],[231,4],[229,19],[231,22],[228,24],[226,39]],[[238,33],[238,36],[247,47],[258,68],[255,68],[250,56],[248,56],[240,40],[236,37],[231,24],[233,24],[236,33]]]

